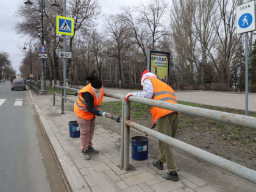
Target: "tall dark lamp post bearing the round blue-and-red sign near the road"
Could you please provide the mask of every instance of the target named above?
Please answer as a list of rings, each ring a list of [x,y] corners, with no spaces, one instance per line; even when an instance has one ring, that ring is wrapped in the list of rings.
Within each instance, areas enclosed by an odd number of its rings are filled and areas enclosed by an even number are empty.
[[[24,2],[25,5],[32,5],[33,3],[30,0]],[[41,44],[44,44],[44,34],[43,34],[43,12],[44,12],[44,0],[40,0],[40,12],[41,12]],[[44,58],[41,58],[41,90],[40,94],[47,94],[46,90],[46,81],[44,75]]]

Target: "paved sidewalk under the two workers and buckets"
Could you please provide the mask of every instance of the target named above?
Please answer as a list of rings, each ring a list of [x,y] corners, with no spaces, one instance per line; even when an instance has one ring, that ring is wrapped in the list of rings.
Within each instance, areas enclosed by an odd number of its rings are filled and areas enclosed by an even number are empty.
[[[121,129],[121,124],[102,117],[96,118],[93,137],[93,146],[99,154],[85,161],[80,155],[80,138],[69,137],[68,122],[76,120],[73,104],[65,103],[62,115],[59,97],[56,97],[56,106],[52,106],[52,95],[30,96],[70,191],[256,191],[256,185],[177,151],[174,157],[179,168],[179,182],[160,176],[166,167],[159,171],[152,166],[156,154],[149,154],[145,161],[130,158],[133,168],[124,171],[119,167],[120,136],[112,131]]]

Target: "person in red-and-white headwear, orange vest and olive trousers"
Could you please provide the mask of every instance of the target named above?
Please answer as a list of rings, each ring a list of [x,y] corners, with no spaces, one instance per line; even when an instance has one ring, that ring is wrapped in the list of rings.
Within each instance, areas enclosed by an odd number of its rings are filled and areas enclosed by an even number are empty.
[[[155,74],[146,70],[141,74],[140,81],[143,91],[128,93],[125,98],[126,101],[130,96],[137,96],[177,104],[174,90],[162,80],[157,79]],[[178,113],[165,108],[151,107],[151,114],[153,126],[157,127],[157,131],[174,138],[178,126]],[[172,154],[172,146],[162,141],[158,141],[158,146],[160,154],[158,155],[158,160],[154,160],[153,165],[162,170],[163,162],[166,162],[168,172],[162,173],[162,177],[173,181],[179,180]]]

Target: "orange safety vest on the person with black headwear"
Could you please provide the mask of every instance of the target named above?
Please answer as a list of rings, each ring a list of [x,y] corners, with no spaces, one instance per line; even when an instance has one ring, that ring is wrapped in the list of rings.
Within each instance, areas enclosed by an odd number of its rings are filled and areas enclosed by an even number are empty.
[[[97,99],[96,96],[94,95],[93,90],[91,89],[91,84],[88,84],[87,86],[82,88],[82,90],[79,91],[76,102],[74,103],[74,112],[79,118],[90,120],[90,119],[93,119],[95,115],[93,115],[93,113],[88,112],[87,110],[87,102],[82,97],[82,93],[85,93],[85,92],[91,93],[91,95],[94,98],[93,106],[99,110],[99,107],[101,107],[104,90],[102,87],[101,96],[99,97],[99,99]]]

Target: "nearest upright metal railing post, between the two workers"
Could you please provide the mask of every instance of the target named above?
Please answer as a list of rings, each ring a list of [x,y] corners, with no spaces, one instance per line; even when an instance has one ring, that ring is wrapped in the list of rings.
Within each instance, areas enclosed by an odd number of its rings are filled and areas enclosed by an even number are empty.
[[[124,170],[129,170],[129,143],[130,143],[130,127],[126,121],[130,120],[130,101],[124,102]]]

